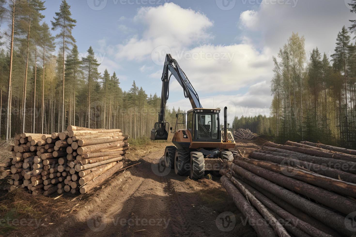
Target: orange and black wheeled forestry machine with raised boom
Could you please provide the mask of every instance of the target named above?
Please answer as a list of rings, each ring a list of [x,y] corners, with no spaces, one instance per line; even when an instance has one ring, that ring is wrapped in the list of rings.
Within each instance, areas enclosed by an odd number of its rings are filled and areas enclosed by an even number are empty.
[[[170,73],[170,75],[169,75]],[[219,171],[220,159],[234,159],[235,140],[232,128],[227,128],[227,107],[224,108],[224,128],[220,128],[220,108],[208,109],[201,106],[197,92],[188,80],[177,60],[166,55],[162,73],[161,109],[158,122],[151,130],[151,140],[167,140],[169,123],[165,120],[166,102],[169,96],[169,80],[174,76],[183,87],[184,97],[192,104],[187,114],[183,114],[184,129],[178,129],[178,115],[172,142],[164,151],[164,165],[174,169],[176,174],[198,180],[205,171]],[[187,123],[185,124],[185,116]],[[182,123],[180,123],[182,124]]]

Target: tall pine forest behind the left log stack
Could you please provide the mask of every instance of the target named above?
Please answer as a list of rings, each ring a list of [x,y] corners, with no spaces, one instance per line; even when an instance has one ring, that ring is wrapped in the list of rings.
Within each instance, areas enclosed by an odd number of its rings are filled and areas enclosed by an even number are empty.
[[[148,96],[135,81],[122,91],[114,71],[98,71],[90,45],[79,57],[72,36],[77,21],[67,1],[49,23],[41,14],[45,1],[0,0],[0,5],[2,26],[8,26],[1,29],[0,138],[23,131],[50,134],[68,124],[121,128],[134,139],[149,137],[160,98]],[[175,113],[167,108],[170,123]]]

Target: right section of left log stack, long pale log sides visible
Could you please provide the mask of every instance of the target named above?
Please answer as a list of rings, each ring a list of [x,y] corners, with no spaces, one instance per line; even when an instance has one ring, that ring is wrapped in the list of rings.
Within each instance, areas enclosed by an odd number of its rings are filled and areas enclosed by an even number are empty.
[[[64,192],[87,193],[126,166],[125,153],[130,144],[120,129],[88,129],[68,126],[67,160],[69,175]],[[80,189],[79,189],[80,187]]]

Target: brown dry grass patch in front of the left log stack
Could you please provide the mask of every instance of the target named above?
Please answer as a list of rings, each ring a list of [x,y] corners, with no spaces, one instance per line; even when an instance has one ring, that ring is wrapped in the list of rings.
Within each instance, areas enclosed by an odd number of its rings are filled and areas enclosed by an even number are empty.
[[[0,235],[42,236],[55,228],[73,211],[77,202],[70,199],[33,196],[21,188],[0,198]],[[24,230],[26,230],[24,232]]]

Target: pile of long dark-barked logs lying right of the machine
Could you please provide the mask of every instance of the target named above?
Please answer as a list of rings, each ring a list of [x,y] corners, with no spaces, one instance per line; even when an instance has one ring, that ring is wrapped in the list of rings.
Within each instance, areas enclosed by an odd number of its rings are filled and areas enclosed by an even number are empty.
[[[354,236],[355,150],[266,142],[223,160],[221,183],[258,236]],[[261,220],[261,221],[258,221]]]

